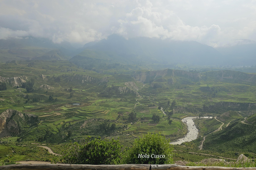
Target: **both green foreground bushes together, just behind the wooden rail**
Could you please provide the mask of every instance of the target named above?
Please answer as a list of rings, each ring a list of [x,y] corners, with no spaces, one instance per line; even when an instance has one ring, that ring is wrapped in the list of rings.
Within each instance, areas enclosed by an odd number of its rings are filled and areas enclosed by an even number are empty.
[[[91,140],[88,137],[81,143],[70,143],[63,152],[62,158],[55,162],[93,165],[171,164],[173,147],[169,142],[160,133],[148,133],[135,139],[133,146],[122,152],[122,145],[118,139]]]

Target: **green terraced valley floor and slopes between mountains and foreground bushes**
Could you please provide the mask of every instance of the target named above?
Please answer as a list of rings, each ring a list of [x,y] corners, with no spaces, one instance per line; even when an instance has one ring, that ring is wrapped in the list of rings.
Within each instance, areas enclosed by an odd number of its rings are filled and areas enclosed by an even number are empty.
[[[213,118],[194,121],[199,138],[175,145],[174,160],[211,157],[193,157],[189,152],[256,157],[256,74],[147,71],[122,64],[88,70],[77,64],[84,61],[75,59],[0,64],[0,82],[6,85],[0,91],[1,161],[51,161],[58,156],[31,143],[47,144],[61,154],[70,141],[79,142],[88,135],[119,138],[124,146],[147,132],[160,132],[174,141],[187,133],[181,119],[188,116]],[[215,131],[221,122],[222,130]],[[233,151],[234,147],[238,149]],[[28,148],[36,154],[25,152]]]

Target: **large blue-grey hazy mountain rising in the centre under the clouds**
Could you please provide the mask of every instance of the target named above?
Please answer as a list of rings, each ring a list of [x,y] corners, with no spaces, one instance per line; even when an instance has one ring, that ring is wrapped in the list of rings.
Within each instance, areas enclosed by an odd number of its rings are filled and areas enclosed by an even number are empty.
[[[193,41],[170,41],[138,37],[126,40],[118,35],[95,44],[85,44],[81,56],[115,60],[126,63],[188,63],[212,65],[219,63],[222,55],[213,47]]]

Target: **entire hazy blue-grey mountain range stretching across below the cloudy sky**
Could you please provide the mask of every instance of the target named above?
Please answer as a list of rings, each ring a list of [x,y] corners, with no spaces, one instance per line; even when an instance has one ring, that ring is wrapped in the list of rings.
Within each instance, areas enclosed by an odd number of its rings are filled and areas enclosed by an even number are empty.
[[[121,64],[252,65],[256,62],[256,43],[243,42],[247,43],[213,48],[195,41],[146,37],[127,40],[114,34],[75,48],[69,42],[53,43],[44,38],[24,37],[0,40],[0,61],[71,59],[75,62],[79,56],[79,60],[86,57],[91,62],[101,60]]]

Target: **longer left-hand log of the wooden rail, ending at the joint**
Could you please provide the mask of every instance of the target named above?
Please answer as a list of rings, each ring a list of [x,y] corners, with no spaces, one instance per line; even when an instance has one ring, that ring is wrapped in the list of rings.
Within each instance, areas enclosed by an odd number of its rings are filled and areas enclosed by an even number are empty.
[[[150,170],[150,164],[75,165],[75,164],[14,164],[0,170]]]

